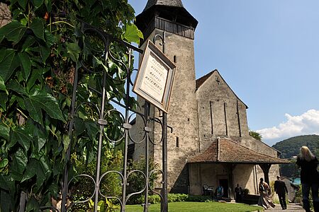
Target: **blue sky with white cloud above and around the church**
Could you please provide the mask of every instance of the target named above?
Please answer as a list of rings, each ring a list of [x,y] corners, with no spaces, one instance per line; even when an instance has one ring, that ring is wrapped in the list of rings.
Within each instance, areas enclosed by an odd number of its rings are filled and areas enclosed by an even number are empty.
[[[198,20],[196,78],[218,69],[272,145],[319,134],[318,0],[182,0]],[[138,15],[147,0],[128,0]]]

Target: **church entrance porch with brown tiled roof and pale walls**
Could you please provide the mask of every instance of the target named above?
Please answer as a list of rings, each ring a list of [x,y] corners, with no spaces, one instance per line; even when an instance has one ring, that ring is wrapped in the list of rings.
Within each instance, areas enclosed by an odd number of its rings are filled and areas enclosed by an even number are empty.
[[[239,184],[250,194],[258,194],[259,178],[264,177],[269,183],[269,173],[272,179],[279,175],[275,165],[279,163],[289,161],[257,153],[227,138],[218,138],[206,151],[189,160],[189,193],[203,194],[204,184],[214,193],[222,186],[223,197],[235,199],[234,190]]]

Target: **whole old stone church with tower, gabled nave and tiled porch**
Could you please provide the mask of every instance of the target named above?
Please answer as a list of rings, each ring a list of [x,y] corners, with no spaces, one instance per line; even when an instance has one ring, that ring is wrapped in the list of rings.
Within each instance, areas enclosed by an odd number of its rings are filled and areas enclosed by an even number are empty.
[[[273,181],[279,175],[279,152],[249,135],[247,105],[224,81],[217,70],[196,79],[194,34],[197,20],[186,11],[181,0],[148,0],[136,17],[145,40],[164,35],[164,54],[177,66],[167,112],[172,133],[167,135],[168,189],[171,193],[203,194],[203,185],[223,186],[224,196],[233,198],[235,185],[258,194],[260,177]],[[165,32],[163,34],[163,32]],[[159,40],[155,43],[162,48]],[[138,98],[143,105],[142,98]],[[161,112],[150,108],[150,117]],[[132,136],[138,138],[143,123],[136,117]],[[150,155],[162,163],[162,129],[152,123]],[[130,146],[133,158],[145,154],[145,145]]]

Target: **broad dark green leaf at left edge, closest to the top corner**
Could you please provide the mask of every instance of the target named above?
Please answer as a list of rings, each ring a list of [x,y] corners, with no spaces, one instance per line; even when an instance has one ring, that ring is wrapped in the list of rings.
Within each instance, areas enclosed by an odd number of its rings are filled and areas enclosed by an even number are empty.
[[[13,20],[11,23],[0,28],[0,37],[4,36],[7,40],[18,43],[24,33],[26,33],[26,29],[26,26],[22,25],[17,20]]]

